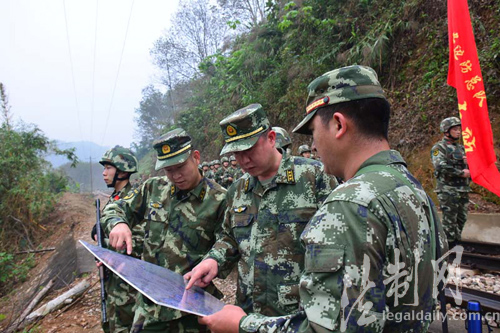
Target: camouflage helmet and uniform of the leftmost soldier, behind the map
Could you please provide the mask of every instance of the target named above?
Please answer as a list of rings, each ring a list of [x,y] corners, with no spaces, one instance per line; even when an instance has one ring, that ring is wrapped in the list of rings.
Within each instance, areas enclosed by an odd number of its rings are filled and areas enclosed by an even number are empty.
[[[117,177],[118,171],[125,171],[130,173],[137,172],[137,159],[129,149],[120,146],[116,146],[108,150],[101,158],[99,163],[101,163],[102,165],[110,164],[117,168],[115,180],[112,184],[113,187],[116,180],[120,180]],[[125,185],[125,187],[123,187],[120,191],[115,190],[109,197],[109,200],[104,206],[103,211],[108,205],[121,198],[126,197],[132,190],[133,187],[130,182],[127,182],[127,185]],[[104,219],[101,219],[101,227],[103,228],[103,230],[105,230],[106,225],[103,221]],[[137,242],[137,240],[142,236],[143,233],[140,225],[137,225],[132,229],[133,247],[131,255],[135,258],[141,257],[142,244]],[[103,234],[103,247],[110,248],[109,239],[106,234]],[[121,251],[121,253],[124,253],[124,251]],[[106,313],[108,322],[103,323],[103,331],[129,332],[134,319],[133,307],[135,305],[135,296],[137,294],[137,291],[117,275],[113,274],[111,271],[106,271],[107,273],[105,289],[107,294]]]

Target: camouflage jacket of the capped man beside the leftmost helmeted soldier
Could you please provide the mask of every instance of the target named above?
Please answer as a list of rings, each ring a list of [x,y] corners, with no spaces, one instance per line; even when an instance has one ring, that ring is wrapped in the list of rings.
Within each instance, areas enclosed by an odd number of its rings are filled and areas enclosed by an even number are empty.
[[[225,209],[226,190],[212,180],[203,178],[197,187],[186,192],[166,177],[154,177],[106,207],[106,233],[118,223],[134,227],[130,221],[141,221],[145,235],[142,260],[185,274],[214,244]],[[152,321],[170,321],[183,315],[141,298],[138,311],[149,313]]]

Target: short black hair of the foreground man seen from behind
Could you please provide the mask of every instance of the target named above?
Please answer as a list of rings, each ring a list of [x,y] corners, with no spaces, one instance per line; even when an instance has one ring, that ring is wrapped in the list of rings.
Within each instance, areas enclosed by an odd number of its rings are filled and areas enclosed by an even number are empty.
[[[325,126],[328,126],[336,112],[342,113],[352,120],[361,135],[370,139],[384,138],[389,140],[391,106],[387,100],[383,98],[365,98],[327,105],[316,111]]]

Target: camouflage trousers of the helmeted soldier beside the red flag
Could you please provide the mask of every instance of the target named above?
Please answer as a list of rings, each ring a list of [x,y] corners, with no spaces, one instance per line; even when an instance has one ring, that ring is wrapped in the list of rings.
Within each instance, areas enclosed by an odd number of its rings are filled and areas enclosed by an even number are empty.
[[[438,193],[439,206],[443,212],[443,229],[448,243],[460,241],[462,230],[467,221],[469,193],[441,192]]]

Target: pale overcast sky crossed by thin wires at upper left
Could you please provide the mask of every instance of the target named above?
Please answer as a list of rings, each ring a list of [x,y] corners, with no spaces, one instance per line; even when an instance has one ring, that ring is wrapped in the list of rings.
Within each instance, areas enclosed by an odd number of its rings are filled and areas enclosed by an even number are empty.
[[[149,50],[177,3],[0,0],[0,82],[14,119],[55,140],[130,146],[141,90],[158,82]]]

